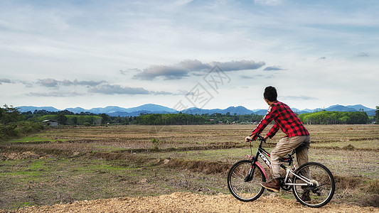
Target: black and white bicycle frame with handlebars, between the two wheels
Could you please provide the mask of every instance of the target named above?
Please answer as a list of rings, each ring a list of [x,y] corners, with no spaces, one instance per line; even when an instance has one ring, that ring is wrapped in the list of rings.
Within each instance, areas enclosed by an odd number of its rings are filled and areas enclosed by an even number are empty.
[[[258,136],[258,138],[260,138],[260,145],[258,146],[258,149],[257,149],[257,153],[255,154],[255,156],[251,156],[251,155],[248,155],[250,159],[252,159],[252,166],[250,168],[250,173],[249,173],[249,177],[252,175],[254,175],[254,166],[253,165],[257,165],[258,167],[260,167],[263,171],[263,173],[265,174],[266,178],[267,178],[267,173],[265,171],[265,169],[262,167],[262,165],[260,165],[260,163],[258,162],[258,156],[266,163],[266,165],[271,169],[271,162],[269,161],[269,159],[267,157],[271,157],[271,155],[269,154],[269,152],[265,151],[264,148],[262,148],[262,142],[265,142],[265,139],[262,137],[262,136]],[[252,141],[250,141],[250,149],[251,149],[251,143]],[[289,157],[287,158],[282,158],[282,160],[280,160],[281,162],[284,162],[284,163],[288,163],[288,165],[290,166],[292,164],[292,155],[290,154]],[[312,185],[312,182],[311,180],[309,180],[308,178],[305,178],[303,175],[299,176],[297,175],[296,173],[294,173],[293,170],[291,170],[290,168],[287,168],[286,166],[284,166],[283,164],[280,165],[284,170],[286,170],[286,177],[284,178],[283,180],[283,184],[284,185],[304,185],[304,186],[308,186],[308,185]],[[295,168],[296,168],[296,165],[295,165]],[[299,178],[300,180],[303,180],[304,182],[306,183],[292,183],[292,182],[287,182],[288,178],[289,178],[289,173],[291,173],[292,175],[296,176],[297,178]]]

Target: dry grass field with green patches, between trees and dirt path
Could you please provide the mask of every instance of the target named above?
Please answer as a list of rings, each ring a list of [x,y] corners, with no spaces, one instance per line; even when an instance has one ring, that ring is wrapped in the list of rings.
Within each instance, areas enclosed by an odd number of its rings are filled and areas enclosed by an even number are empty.
[[[254,128],[75,127],[2,142],[0,209],[173,192],[229,194],[226,173],[250,154],[244,138]],[[309,160],[326,165],[336,178],[331,202],[378,207],[379,125],[306,128]],[[279,131],[265,148],[271,150],[282,136]],[[294,200],[292,192],[278,195]]]

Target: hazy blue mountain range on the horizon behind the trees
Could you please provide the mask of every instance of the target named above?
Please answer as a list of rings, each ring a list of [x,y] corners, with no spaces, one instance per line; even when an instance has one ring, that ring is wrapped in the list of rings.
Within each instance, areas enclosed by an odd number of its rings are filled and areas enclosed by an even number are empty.
[[[61,111],[60,109],[56,109],[54,107],[31,107],[31,106],[21,106],[17,107],[18,111],[21,112],[27,112],[27,111],[36,111],[36,110],[46,110],[46,111]],[[179,113],[179,111],[176,111],[175,109],[171,109],[169,107],[164,107],[157,104],[144,104],[139,107],[132,107],[132,108],[122,108],[122,107],[115,107],[115,106],[108,106],[108,107],[97,107],[92,109],[83,109],[81,107],[75,107],[75,108],[66,108],[63,110],[72,111],[73,113],[80,113],[80,112],[86,112],[89,111],[90,113],[94,114],[108,114],[110,116],[139,116],[140,114],[176,114]],[[349,106],[343,106],[343,105],[333,105],[331,107],[328,107],[326,109],[316,108],[316,109],[296,109],[292,108],[294,112],[297,114],[304,114],[309,113],[313,111],[365,111],[368,116],[374,116],[375,115],[375,109],[371,109],[368,107],[364,107],[361,104],[356,105],[349,105]],[[245,107],[239,106],[239,107],[228,107],[226,109],[199,109],[196,107],[192,107],[189,109],[184,109],[181,111],[181,113],[184,114],[214,114],[214,113],[220,113],[220,114],[259,114],[259,115],[265,115],[267,112],[267,109],[247,109]]]

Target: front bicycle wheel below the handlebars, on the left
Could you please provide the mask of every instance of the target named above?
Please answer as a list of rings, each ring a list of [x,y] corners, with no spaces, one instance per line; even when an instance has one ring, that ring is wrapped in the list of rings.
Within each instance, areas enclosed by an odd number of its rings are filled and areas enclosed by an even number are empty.
[[[238,200],[244,202],[256,200],[265,190],[260,183],[266,182],[266,177],[258,166],[253,165],[254,174],[252,179],[246,180],[250,168],[252,168],[251,160],[241,160],[235,163],[228,173],[228,188],[230,193]]]

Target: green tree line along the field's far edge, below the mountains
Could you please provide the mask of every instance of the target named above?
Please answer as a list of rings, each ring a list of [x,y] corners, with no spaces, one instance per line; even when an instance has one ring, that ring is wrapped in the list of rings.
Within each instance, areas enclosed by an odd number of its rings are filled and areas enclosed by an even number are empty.
[[[379,121],[379,106],[376,107]],[[60,125],[202,125],[202,124],[252,124],[263,118],[257,114],[141,114],[139,116],[110,116],[107,114],[93,114],[71,111],[36,110],[21,113],[15,107],[6,104],[0,107],[0,140],[12,136],[22,136],[28,133],[41,131],[45,128],[43,120],[58,121]],[[299,119],[304,124],[368,124],[370,119],[364,111],[318,111],[300,114]]]

